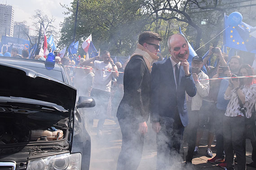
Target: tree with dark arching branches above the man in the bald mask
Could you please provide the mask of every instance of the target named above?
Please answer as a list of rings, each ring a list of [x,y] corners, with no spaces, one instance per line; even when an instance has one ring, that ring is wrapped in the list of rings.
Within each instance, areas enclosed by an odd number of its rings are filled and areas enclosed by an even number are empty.
[[[148,0],[146,1],[147,6],[150,7],[150,16],[155,15],[155,20],[164,20],[170,21],[176,19],[177,21],[185,22],[189,26],[193,27],[196,30],[195,34],[195,48],[198,49],[200,47],[203,29],[200,26],[201,21],[195,21],[195,15],[191,15],[191,7],[200,9],[200,11],[210,11],[210,15],[208,17],[216,17],[212,15],[212,13],[216,13],[218,16],[218,21],[222,19],[220,16],[223,16],[225,9],[220,8],[221,2],[218,0]],[[154,6],[152,4],[158,4],[158,6]],[[161,14],[159,16],[159,13]],[[205,14],[205,13],[204,13]],[[200,15],[197,13],[197,15]],[[220,22],[219,22],[220,23]],[[221,25],[219,25],[221,26]]]

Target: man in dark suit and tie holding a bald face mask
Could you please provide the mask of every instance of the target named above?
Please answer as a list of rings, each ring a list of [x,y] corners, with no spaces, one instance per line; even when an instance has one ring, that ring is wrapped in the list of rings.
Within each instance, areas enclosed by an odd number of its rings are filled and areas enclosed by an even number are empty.
[[[171,57],[154,63],[151,72],[150,120],[157,133],[157,170],[169,169],[178,159],[188,124],[185,93],[196,94],[187,40],[174,34],[168,38],[168,48]]]

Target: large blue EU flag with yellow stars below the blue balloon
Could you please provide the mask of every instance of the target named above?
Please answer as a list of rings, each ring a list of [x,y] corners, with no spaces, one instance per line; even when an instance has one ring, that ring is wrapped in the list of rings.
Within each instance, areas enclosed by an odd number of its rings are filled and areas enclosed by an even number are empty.
[[[228,16],[225,15],[225,28],[228,28],[223,36],[224,45],[237,50],[256,53],[256,38],[249,35],[253,27],[244,22],[241,22],[238,26],[229,26],[227,20]]]

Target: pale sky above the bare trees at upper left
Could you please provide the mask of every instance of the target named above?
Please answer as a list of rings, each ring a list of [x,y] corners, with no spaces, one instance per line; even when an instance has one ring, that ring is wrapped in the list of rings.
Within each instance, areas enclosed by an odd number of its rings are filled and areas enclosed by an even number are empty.
[[[39,9],[47,14],[49,17],[56,18],[54,25],[60,29],[60,22],[64,21],[63,12],[67,12],[67,9],[62,8],[61,4],[66,4],[71,7],[73,0],[0,0],[0,4],[9,4],[14,9],[14,21],[22,22],[26,21],[27,25],[33,29],[32,15],[35,14],[35,10]],[[32,31],[32,30],[31,30]]]

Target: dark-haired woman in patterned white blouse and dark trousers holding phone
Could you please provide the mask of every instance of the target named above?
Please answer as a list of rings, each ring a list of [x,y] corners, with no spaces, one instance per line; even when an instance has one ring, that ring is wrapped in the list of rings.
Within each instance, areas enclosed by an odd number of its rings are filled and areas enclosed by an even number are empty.
[[[254,75],[253,69],[248,64],[243,64],[238,75]],[[256,102],[255,79],[252,77],[230,79],[224,98],[230,100],[223,119],[226,168],[234,170],[235,151],[238,170],[245,170],[245,119],[252,116],[252,108]]]

